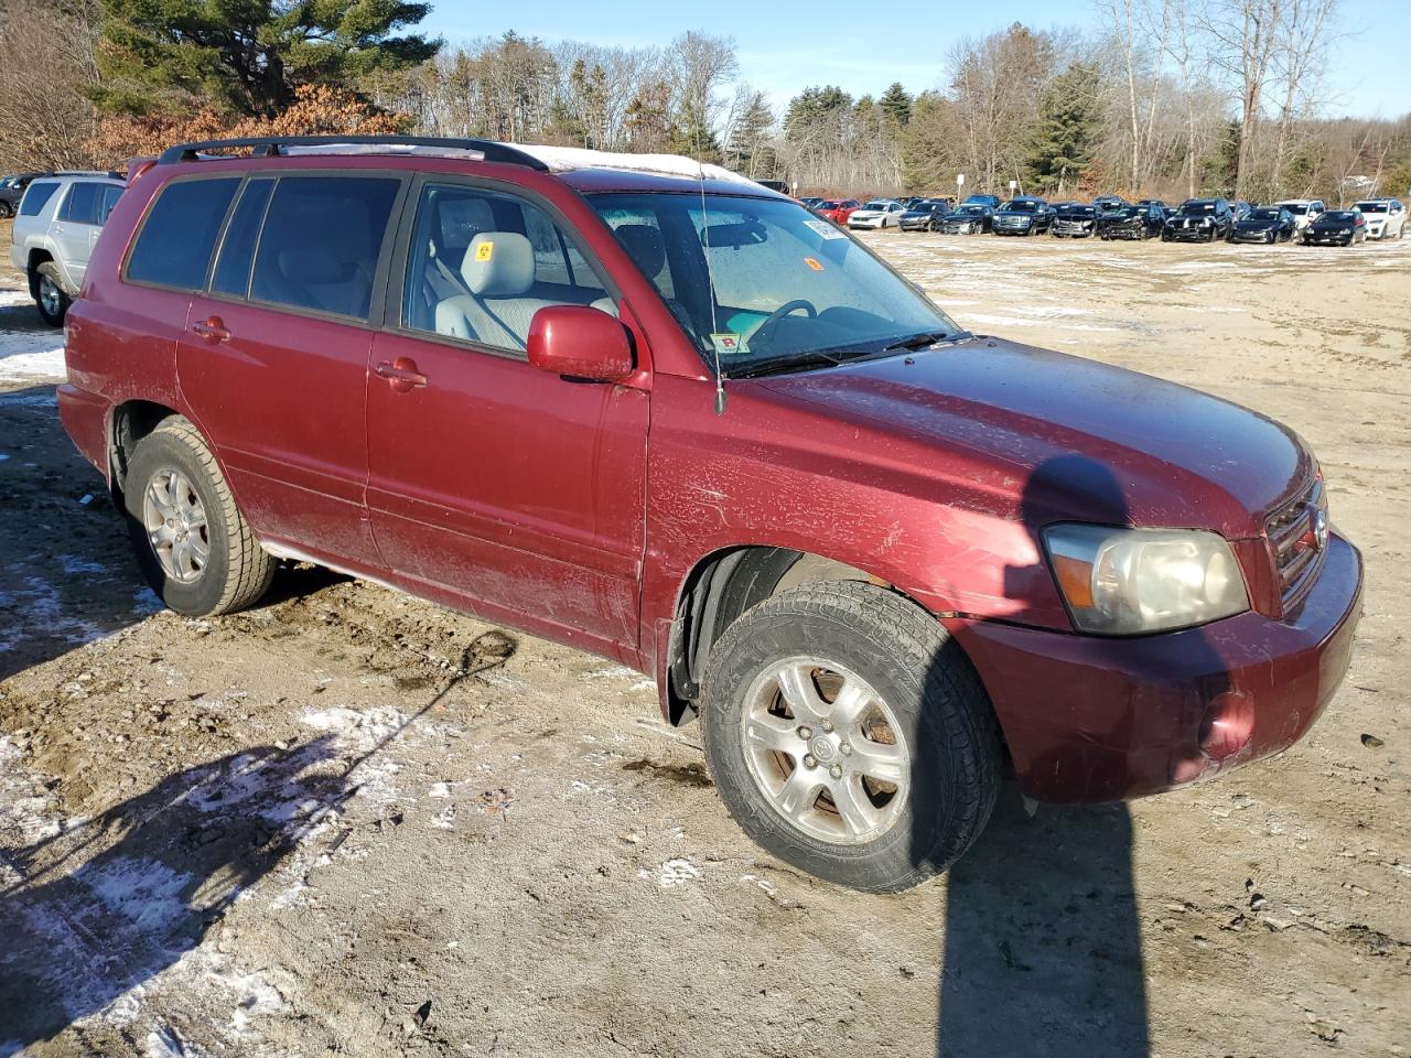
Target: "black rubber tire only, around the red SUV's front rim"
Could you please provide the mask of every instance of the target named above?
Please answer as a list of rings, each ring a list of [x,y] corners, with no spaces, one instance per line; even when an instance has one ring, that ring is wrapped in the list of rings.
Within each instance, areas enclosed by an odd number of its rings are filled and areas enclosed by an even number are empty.
[[[807,834],[751,772],[745,697],[770,664],[796,656],[849,669],[896,717],[909,789],[875,838],[847,844]],[[731,815],[766,851],[828,882],[872,893],[910,889],[954,863],[995,807],[1000,738],[979,677],[933,616],[872,584],[809,584],[749,609],[713,647],[701,704],[706,756]],[[804,766],[801,758],[794,763]]]

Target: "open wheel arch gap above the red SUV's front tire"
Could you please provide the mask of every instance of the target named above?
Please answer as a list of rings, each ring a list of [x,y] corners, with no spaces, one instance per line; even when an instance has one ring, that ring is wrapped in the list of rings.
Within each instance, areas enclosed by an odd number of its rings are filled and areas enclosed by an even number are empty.
[[[696,715],[710,649],[745,611],[803,584],[854,580],[893,591],[928,608],[893,583],[824,554],[793,547],[744,545],[703,556],[682,580],[662,667],[662,710],[672,725]]]

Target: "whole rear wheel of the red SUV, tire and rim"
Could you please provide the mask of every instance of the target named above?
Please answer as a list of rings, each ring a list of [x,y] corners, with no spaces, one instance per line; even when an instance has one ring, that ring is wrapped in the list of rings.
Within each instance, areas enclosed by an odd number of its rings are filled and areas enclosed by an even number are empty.
[[[168,419],[138,442],[126,484],[137,563],[168,607],[210,616],[264,595],[275,561],[250,532],[216,457],[186,419]]]

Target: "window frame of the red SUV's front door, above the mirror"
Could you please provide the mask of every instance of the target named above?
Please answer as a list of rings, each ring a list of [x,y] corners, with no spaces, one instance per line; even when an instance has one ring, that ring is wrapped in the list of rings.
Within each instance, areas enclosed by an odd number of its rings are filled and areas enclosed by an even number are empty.
[[[419,172],[415,175],[415,179],[411,182],[411,188],[406,192],[402,216],[398,223],[396,244],[388,262],[388,275],[382,296],[382,322],[378,327],[380,330],[399,334],[402,337],[416,339],[418,341],[433,341],[436,344],[463,348],[471,353],[484,353],[504,360],[514,360],[521,364],[526,360],[522,350],[508,350],[483,341],[459,339],[453,334],[437,334],[436,332],[418,330],[416,327],[408,327],[402,323],[406,292],[406,269],[411,264],[411,244],[412,237],[416,234],[416,212],[420,207],[422,192],[426,189],[426,185],[460,186],[473,190],[483,190],[539,207],[553,223],[555,229],[557,229],[560,240],[567,240],[567,245],[573,245],[583,257],[584,262],[587,262],[588,268],[602,284],[605,296],[611,298],[614,305],[621,303],[622,288],[618,286],[617,278],[602,264],[597,253],[594,253],[587,240],[583,238],[583,234],[577,230],[577,227],[546,196],[516,183],[507,183],[504,181],[490,179],[485,176]],[[392,282],[392,276],[396,276],[398,282]]]

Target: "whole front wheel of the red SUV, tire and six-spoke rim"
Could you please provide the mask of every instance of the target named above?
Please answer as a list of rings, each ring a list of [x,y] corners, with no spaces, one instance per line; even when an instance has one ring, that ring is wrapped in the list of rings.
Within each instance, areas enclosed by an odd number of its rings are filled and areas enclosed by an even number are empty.
[[[748,611],[703,684],[706,756],[744,831],[828,882],[899,892],[945,870],[999,789],[993,710],[928,614],[859,581]]]

